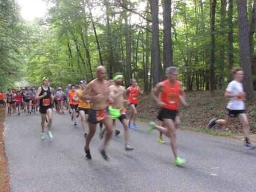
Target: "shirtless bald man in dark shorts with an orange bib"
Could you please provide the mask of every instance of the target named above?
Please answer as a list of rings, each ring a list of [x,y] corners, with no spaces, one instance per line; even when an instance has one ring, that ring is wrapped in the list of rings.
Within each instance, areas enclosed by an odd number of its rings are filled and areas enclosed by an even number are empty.
[[[98,78],[91,81],[88,84],[87,89],[80,96],[82,100],[92,101],[88,117],[89,133],[86,137],[86,146],[84,146],[84,151],[86,152],[86,157],[88,159],[92,159],[89,145],[95,134],[97,123],[102,121],[105,125],[106,133],[105,140],[103,142],[103,145],[100,147],[99,152],[105,160],[108,160],[108,156],[106,156],[105,150],[113,132],[113,121],[111,120],[107,106],[110,93],[109,81],[105,80],[106,68],[104,66],[97,67],[96,74]]]

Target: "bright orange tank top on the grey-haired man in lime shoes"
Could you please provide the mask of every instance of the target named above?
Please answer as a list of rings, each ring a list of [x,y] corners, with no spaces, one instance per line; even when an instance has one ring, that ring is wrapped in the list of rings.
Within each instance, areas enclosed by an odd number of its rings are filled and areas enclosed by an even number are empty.
[[[168,110],[178,110],[179,95],[181,94],[180,83],[175,81],[173,86],[170,86],[169,80],[162,81],[164,83],[164,91],[161,93],[161,101],[165,103],[163,108]]]

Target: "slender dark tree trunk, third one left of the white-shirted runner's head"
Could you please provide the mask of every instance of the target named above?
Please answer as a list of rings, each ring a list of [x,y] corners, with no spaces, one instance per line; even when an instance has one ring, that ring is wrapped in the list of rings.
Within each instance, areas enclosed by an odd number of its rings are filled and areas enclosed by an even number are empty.
[[[210,16],[210,92],[215,90],[215,12],[216,12],[217,0],[212,0],[211,4],[211,16]]]

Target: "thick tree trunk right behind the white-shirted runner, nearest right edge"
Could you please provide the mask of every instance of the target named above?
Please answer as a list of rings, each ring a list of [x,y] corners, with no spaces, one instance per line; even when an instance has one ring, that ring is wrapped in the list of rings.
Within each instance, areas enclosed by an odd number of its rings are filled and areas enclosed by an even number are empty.
[[[240,65],[244,70],[244,91],[246,99],[254,100],[254,92],[251,74],[251,59],[249,47],[249,31],[247,25],[246,0],[238,0],[238,33],[239,33],[239,53]]]

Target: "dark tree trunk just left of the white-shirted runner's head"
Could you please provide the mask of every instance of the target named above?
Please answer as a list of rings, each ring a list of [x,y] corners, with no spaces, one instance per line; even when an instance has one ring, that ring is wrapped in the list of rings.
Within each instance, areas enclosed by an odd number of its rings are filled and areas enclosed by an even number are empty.
[[[228,0],[228,33],[227,33],[227,66],[228,71],[233,67],[234,55],[233,55],[233,0]],[[232,74],[228,76],[228,82],[232,80]]]

